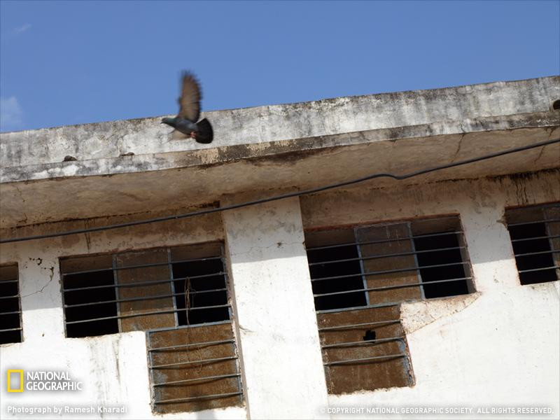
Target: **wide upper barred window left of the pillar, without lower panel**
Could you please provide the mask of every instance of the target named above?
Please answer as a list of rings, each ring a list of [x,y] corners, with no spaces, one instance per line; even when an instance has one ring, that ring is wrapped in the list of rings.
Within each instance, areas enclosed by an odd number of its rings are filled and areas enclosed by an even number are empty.
[[[219,243],[64,258],[67,337],[230,319]]]

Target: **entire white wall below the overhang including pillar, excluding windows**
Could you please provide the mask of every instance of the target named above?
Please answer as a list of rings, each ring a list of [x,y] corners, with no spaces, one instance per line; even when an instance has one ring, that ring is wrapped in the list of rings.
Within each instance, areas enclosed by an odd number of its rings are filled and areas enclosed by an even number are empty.
[[[98,402],[127,404],[123,418],[160,417],[151,414],[142,332],[64,337],[57,258],[227,238],[248,407],[166,418],[311,418],[323,415],[316,407],[322,403],[331,408],[540,405],[552,407],[551,418],[557,418],[559,284],[519,285],[503,209],[558,200],[558,172],[407,188],[363,185],[302,197],[301,212],[296,200],[226,212],[225,232],[221,218],[212,216],[1,246],[0,262],[20,265],[25,335],[23,343],[0,346],[1,374],[19,367],[69,370],[87,388],[39,398],[6,393],[2,378],[0,416],[7,417],[6,407],[13,403]],[[402,305],[414,386],[326,397],[302,228],[437,214],[461,216],[477,293]],[[90,221],[95,223],[107,221]],[[29,233],[78,225],[29,228]]]

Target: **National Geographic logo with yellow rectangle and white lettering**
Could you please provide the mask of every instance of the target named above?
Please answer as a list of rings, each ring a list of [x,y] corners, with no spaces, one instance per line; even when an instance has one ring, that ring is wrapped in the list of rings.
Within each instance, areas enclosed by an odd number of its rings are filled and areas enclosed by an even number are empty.
[[[50,370],[6,370],[6,390],[25,391],[82,391],[83,382],[71,379],[68,372]]]

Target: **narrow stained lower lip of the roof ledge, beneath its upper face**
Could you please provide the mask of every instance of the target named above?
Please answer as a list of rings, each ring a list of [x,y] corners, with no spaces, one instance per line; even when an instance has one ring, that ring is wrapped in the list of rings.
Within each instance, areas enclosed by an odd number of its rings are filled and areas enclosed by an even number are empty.
[[[34,181],[41,179],[64,179],[71,176],[111,176],[134,172],[158,171],[198,167],[208,169],[242,159],[259,160],[302,159],[321,153],[329,148],[368,144],[377,141],[396,142],[399,139],[435,137],[449,134],[467,134],[521,128],[542,128],[551,132],[560,125],[560,113],[524,113],[514,116],[498,116],[461,121],[393,127],[390,129],[349,132],[297,140],[270,141],[260,144],[239,144],[197,151],[156,153],[153,155],[127,155],[118,158],[56,162],[45,165],[0,168],[0,182]],[[560,136],[560,134],[559,134]],[[395,144],[398,147],[398,144]]]

